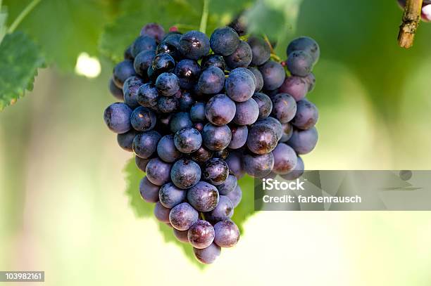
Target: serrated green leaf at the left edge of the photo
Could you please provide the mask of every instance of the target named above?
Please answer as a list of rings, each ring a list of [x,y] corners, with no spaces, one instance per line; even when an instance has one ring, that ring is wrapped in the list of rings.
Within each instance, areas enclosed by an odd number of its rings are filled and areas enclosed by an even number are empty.
[[[26,34],[6,34],[0,44],[0,110],[31,91],[44,57]]]

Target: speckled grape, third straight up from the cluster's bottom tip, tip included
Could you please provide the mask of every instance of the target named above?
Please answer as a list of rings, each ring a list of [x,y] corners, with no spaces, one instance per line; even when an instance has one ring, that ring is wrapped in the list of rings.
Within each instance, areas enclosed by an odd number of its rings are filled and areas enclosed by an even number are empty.
[[[200,181],[187,192],[187,201],[198,212],[210,212],[218,204],[218,190],[211,183]]]

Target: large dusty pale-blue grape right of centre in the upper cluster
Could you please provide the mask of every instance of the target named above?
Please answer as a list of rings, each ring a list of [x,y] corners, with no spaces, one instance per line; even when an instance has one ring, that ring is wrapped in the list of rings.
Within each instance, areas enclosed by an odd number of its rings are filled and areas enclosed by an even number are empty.
[[[253,77],[244,70],[232,70],[225,81],[227,96],[237,102],[243,102],[253,96],[256,85]]]

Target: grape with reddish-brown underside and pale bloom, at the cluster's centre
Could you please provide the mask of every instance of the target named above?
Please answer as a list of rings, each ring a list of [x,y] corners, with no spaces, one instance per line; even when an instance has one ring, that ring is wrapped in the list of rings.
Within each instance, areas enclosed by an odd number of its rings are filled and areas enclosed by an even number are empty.
[[[235,117],[235,103],[225,94],[213,96],[205,107],[205,116],[212,124],[222,126]]]

